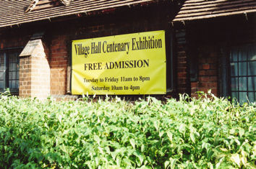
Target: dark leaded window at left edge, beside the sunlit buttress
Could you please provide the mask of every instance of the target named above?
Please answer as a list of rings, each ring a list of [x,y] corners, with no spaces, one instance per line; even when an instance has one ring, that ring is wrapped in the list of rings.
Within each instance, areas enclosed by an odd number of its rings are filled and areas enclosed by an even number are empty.
[[[0,91],[19,92],[19,55],[17,50],[0,51]]]

